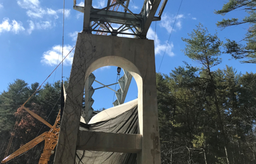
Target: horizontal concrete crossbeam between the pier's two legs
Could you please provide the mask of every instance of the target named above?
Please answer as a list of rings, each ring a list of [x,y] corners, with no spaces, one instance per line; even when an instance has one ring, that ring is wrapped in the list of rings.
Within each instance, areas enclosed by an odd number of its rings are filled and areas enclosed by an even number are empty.
[[[76,149],[102,152],[138,153],[142,149],[142,135],[79,130],[79,140]]]

